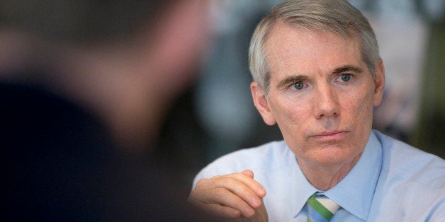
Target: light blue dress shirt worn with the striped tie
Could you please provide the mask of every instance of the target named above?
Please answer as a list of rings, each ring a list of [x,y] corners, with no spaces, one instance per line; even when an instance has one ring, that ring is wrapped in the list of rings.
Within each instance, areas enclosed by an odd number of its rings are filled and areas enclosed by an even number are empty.
[[[313,187],[284,141],[218,158],[193,181],[252,170],[266,189],[269,221],[307,221],[306,201],[323,192],[341,206],[331,221],[445,221],[445,160],[373,131],[360,160],[334,187]]]

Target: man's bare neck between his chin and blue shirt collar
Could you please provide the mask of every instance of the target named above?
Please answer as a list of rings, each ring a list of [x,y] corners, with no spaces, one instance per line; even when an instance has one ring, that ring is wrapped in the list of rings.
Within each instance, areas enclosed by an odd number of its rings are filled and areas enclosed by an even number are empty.
[[[317,165],[298,158],[297,160],[308,181],[317,189],[327,190],[337,185],[349,173],[359,161],[361,154],[359,153],[359,155],[344,163],[333,165]]]

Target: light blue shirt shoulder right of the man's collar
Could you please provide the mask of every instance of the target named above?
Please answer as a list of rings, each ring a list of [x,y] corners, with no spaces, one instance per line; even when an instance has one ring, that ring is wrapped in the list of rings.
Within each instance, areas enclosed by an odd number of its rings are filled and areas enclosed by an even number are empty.
[[[443,220],[445,160],[380,132],[374,133],[383,148],[383,165],[373,196],[373,207],[378,213],[370,215],[385,216],[385,220]]]

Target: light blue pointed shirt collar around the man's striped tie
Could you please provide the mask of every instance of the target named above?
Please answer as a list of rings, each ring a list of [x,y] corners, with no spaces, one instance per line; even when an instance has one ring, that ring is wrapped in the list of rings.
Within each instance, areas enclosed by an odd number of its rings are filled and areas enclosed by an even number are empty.
[[[382,160],[381,144],[376,135],[371,132],[364,153],[356,165],[337,185],[323,193],[349,213],[366,221],[380,175]],[[293,175],[298,187],[295,195],[297,197],[295,213],[299,214],[310,195],[319,190],[308,182],[296,160],[294,169]]]

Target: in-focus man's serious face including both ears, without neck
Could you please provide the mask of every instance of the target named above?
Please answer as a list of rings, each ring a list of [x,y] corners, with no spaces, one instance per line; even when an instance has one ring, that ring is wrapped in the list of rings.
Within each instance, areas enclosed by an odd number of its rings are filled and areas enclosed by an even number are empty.
[[[300,164],[344,164],[363,153],[373,106],[381,103],[383,63],[376,78],[361,59],[358,39],[277,23],[266,42],[269,98],[252,95],[267,124],[278,124]]]

